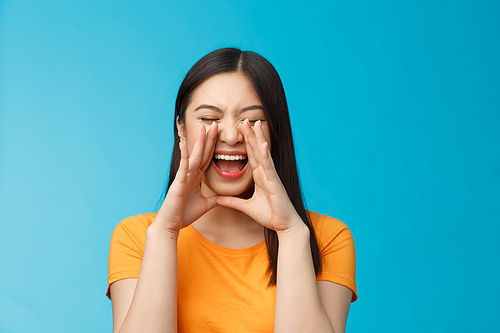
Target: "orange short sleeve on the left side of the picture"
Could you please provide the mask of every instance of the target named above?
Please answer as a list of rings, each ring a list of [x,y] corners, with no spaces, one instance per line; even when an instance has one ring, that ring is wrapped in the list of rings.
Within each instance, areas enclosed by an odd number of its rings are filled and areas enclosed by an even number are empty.
[[[137,279],[141,269],[146,231],[154,219],[153,214],[131,216],[121,221],[113,231],[109,246],[108,289],[113,282]],[[156,214],[154,214],[156,215]]]

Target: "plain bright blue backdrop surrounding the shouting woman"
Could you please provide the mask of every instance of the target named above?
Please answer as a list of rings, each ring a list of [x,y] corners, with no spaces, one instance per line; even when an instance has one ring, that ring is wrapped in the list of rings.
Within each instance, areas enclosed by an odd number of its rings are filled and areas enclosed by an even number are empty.
[[[111,233],[154,211],[176,90],[260,52],[308,207],[357,250],[349,332],[500,330],[498,1],[0,1],[0,332],[111,332]]]

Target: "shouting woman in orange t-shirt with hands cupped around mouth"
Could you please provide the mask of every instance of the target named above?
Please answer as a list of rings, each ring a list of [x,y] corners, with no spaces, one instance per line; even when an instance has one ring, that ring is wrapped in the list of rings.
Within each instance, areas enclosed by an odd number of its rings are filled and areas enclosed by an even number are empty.
[[[161,209],[113,233],[114,332],[344,332],[352,236],[304,208],[274,67],[209,53],[182,82],[175,120]]]

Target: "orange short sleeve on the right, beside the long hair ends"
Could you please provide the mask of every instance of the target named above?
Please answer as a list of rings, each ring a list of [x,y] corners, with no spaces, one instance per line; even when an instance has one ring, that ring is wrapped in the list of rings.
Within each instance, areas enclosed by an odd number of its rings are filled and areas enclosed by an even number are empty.
[[[330,281],[352,290],[352,302],[358,298],[356,287],[356,253],[349,228],[326,215],[309,212],[318,240],[323,269],[318,281]]]

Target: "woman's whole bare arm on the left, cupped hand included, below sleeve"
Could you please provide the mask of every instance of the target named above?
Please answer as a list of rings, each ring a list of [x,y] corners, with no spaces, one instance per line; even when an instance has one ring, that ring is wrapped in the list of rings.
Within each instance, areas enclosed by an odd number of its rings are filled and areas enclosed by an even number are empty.
[[[180,229],[217,206],[216,196],[205,198],[200,186],[216,140],[213,123],[208,131],[200,125],[191,155],[179,144],[179,170],[147,230],[139,278],[110,286],[114,332],[177,332],[177,238]]]

